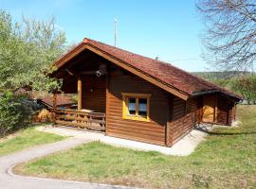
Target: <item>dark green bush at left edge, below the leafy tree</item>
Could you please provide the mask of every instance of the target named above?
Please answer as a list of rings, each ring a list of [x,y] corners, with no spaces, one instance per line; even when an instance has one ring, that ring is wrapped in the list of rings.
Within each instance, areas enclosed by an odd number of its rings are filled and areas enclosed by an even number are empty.
[[[0,95],[0,137],[27,127],[37,109],[37,104],[26,95],[15,95],[11,92]]]

